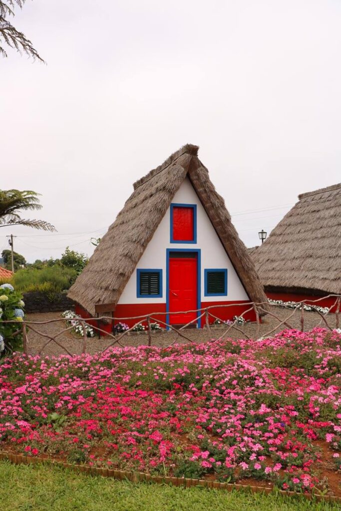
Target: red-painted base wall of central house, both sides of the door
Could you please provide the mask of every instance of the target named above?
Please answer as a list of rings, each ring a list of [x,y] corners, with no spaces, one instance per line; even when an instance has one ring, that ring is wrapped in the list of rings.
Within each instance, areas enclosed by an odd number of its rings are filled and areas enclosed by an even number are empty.
[[[234,305],[232,307],[212,307],[212,306],[218,306],[218,305],[226,305],[229,303],[233,303]],[[201,308],[209,308],[209,311],[222,321],[226,321],[228,319],[233,319],[234,316],[240,316],[243,311],[246,311],[251,306],[250,305],[238,305],[245,304],[243,301],[233,301],[233,302],[226,302],[226,301],[203,301],[201,303]],[[84,319],[90,318],[88,312],[86,312],[80,305],[76,305],[75,307],[76,314],[81,316]],[[152,315],[152,313],[163,313],[163,314],[156,314]],[[152,315],[152,319],[156,322],[164,321],[166,322],[166,304],[122,304],[118,305],[115,311],[115,320],[114,324],[117,324],[119,321],[122,321],[123,323],[126,323],[129,328],[133,327],[135,323],[139,321],[139,319],[123,319],[126,317],[136,317],[136,316],[146,316],[146,315]],[[199,313],[198,313],[199,315]],[[255,321],[255,313],[254,311],[250,311],[245,314],[244,316],[245,320],[248,321]],[[213,323],[215,321],[214,318],[210,317],[209,319],[210,323]],[[112,324],[100,322],[97,319],[89,320],[88,323],[92,325],[95,328],[100,328],[101,330],[104,330],[105,332],[111,333],[112,332]],[[144,324],[147,324],[145,322]],[[201,319],[201,327],[203,327],[205,324],[204,318]],[[163,325],[161,324],[163,327]],[[101,332],[101,335],[104,335],[103,332]]]

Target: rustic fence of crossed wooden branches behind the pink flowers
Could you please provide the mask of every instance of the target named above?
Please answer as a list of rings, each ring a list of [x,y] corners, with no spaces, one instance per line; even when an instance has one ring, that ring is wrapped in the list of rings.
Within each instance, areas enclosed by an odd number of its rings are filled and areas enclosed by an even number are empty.
[[[327,309],[326,312],[321,312],[319,310],[316,309],[315,306],[319,306],[319,303],[322,301],[322,300],[325,300],[326,298],[335,298],[335,301],[333,301],[332,305]],[[288,316],[285,317],[284,319],[279,317],[278,314],[276,314],[274,312],[274,309],[278,309],[278,307],[280,307],[278,304],[271,304],[271,303],[268,303],[267,301],[266,302],[261,302],[261,303],[255,303],[255,302],[245,302],[245,303],[238,303],[238,304],[226,304],[226,305],[212,305],[210,307],[206,307],[204,309],[196,309],[196,310],[191,310],[191,311],[178,311],[176,312],[176,314],[189,314],[189,313],[196,313],[196,317],[194,319],[192,319],[191,321],[189,321],[188,323],[184,324],[183,326],[181,326],[180,328],[176,328],[174,327],[174,325],[171,325],[171,324],[168,324],[166,323],[165,321],[161,320],[160,317],[158,316],[165,316],[166,317],[169,317],[168,314],[174,314],[175,312],[171,312],[171,313],[168,313],[168,312],[155,312],[155,313],[152,313],[152,314],[148,314],[148,315],[141,315],[141,316],[130,316],[130,317],[122,317],[122,318],[112,318],[112,317],[107,317],[107,316],[101,316],[100,318],[98,317],[93,317],[93,318],[87,318],[87,319],[83,319],[83,318],[75,318],[75,320],[77,320],[77,322],[82,326],[82,330],[83,330],[83,342],[82,342],[82,350],[81,352],[83,354],[87,353],[87,349],[88,349],[88,341],[90,340],[89,337],[87,337],[87,333],[86,333],[86,328],[85,326],[86,325],[89,325],[89,321],[92,321],[92,324],[91,324],[91,327],[97,331],[100,334],[103,334],[106,336],[106,339],[109,338],[111,342],[109,342],[109,344],[107,344],[103,350],[100,350],[102,352],[105,352],[106,350],[108,350],[111,346],[113,345],[120,345],[122,347],[124,347],[124,344],[122,344],[121,340],[126,336],[128,335],[130,332],[132,332],[136,327],[138,327],[140,324],[143,324],[143,323],[146,323],[147,324],[147,338],[148,338],[148,341],[146,344],[148,344],[148,346],[151,346],[152,344],[152,328],[151,328],[151,323],[154,321],[154,322],[157,322],[159,324],[161,324],[163,327],[165,327],[166,329],[169,329],[169,330],[172,330],[176,333],[176,337],[175,337],[175,340],[171,343],[168,344],[168,346],[174,344],[177,339],[179,337],[185,339],[186,341],[188,342],[191,342],[191,343],[195,343],[196,341],[194,341],[193,339],[191,339],[188,335],[186,335],[186,333],[184,332],[184,330],[186,330],[186,328],[190,327],[191,324],[194,324],[196,323],[199,319],[203,319],[204,320],[204,327],[207,329],[208,333],[211,331],[211,327],[212,327],[212,322],[210,324],[210,318],[212,318],[213,320],[218,320],[218,321],[221,321],[222,323],[224,323],[224,321],[221,320],[221,318],[219,318],[218,316],[214,315],[211,311],[212,309],[220,309],[220,308],[223,308],[223,309],[226,309],[226,308],[229,308],[229,307],[247,307],[247,309],[245,309],[238,317],[236,317],[233,321],[229,321],[229,322],[226,322],[226,329],[223,330],[223,333],[218,337],[218,340],[226,337],[229,332],[234,329],[238,332],[241,333],[241,338],[246,338],[246,339],[251,339],[251,338],[256,338],[258,339],[260,337],[260,328],[261,328],[261,324],[262,324],[262,315],[265,315],[265,314],[268,314],[269,316],[273,317],[275,320],[278,321],[278,323],[276,324],[276,326],[272,326],[272,328],[267,331],[267,332],[264,332],[262,333],[262,337],[265,338],[265,337],[269,337],[271,334],[274,334],[276,331],[278,331],[281,327],[284,328],[288,328],[288,329],[294,329],[294,328],[297,328],[297,327],[294,327],[292,326],[292,324],[289,323],[290,319],[294,316],[295,313],[297,313],[298,311],[301,311],[301,314],[300,314],[300,328],[301,328],[301,331],[303,332],[304,331],[304,325],[305,325],[305,314],[309,314],[307,312],[305,312],[305,309],[304,309],[304,306],[308,306],[310,307],[311,309],[314,310],[315,313],[317,313],[320,318],[319,318],[319,321],[316,322],[316,324],[314,325],[314,327],[319,327],[321,325],[323,325],[324,327],[326,327],[327,329],[329,330],[333,330],[334,328],[339,328],[339,325],[340,325],[340,321],[339,321],[339,315],[340,315],[340,305],[341,305],[341,295],[336,295],[336,294],[331,294],[331,295],[328,295],[328,296],[324,296],[322,298],[317,298],[316,300],[302,300],[302,301],[299,301],[297,303],[295,303],[294,305],[294,308],[292,310],[289,311],[288,313]],[[334,311],[332,314],[334,316],[335,314],[335,318],[334,318],[334,323],[335,323],[335,326],[332,327],[330,326],[330,324],[328,323],[328,320],[327,320],[327,317],[331,314],[331,311]],[[255,318],[256,318],[256,321],[254,322],[255,323],[255,335],[253,335],[252,337],[250,337],[241,327],[240,325],[240,321],[242,318],[244,318],[244,316],[250,312],[254,312],[255,314]],[[113,321],[124,321],[124,320],[135,320],[133,326],[131,328],[129,328],[128,330],[125,330],[124,332],[121,332],[119,334],[114,334],[114,333],[109,333],[105,330],[103,330],[103,328],[100,328],[100,321],[105,321],[105,322],[108,322],[108,323],[112,323]],[[56,318],[56,319],[50,319],[50,320],[47,320],[47,321],[27,321],[27,320],[24,320],[22,321],[21,323],[21,332],[22,332],[22,340],[23,340],[23,346],[24,346],[24,353],[26,355],[29,354],[29,351],[30,351],[30,332],[34,332],[35,334],[43,337],[43,338],[46,338],[46,342],[44,342],[44,344],[42,345],[41,349],[39,350],[38,354],[42,354],[44,349],[46,348],[46,346],[48,344],[50,344],[51,342],[54,342],[56,343],[63,351],[65,351],[65,353],[67,353],[68,355],[73,355],[68,349],[67,349],[67,346],[63,345],[59,339],[57,339],[58,337],[60,337],[62,334],[65,334],[66,332],[69,332],[71,330],[74,329],[75,325],[72,325],[72,326],[67,326],[66,328],[63,328],[62,330],[60,330],[59,332],[57,332],[56,334],[54,335],[49,335],[47,334],[46,332],[40,332],[37,330],[37,328],[39,328],[39,326],[42,326],[42,325],[46,325],[48,323],[54,323],[54,322],[60,322],[62,321],[63,323],[65,323],[65,321],[67,321],[65,318]],[[4,322],[7,322],[7,323],[13,323],[14,321],[4,321]],[[93,322],[96,322],[97,323],[97,326],[95,326],[93,324]],[[17,324],[17,322],[15,321],[15,323]],[[38,326],[38,327],[37,327]],[[311,328],[311,324],[310,324],[310,328]],[[17,330],[15,332],[15,334],[17,334],[18,332],[20,332],[20,330]]]

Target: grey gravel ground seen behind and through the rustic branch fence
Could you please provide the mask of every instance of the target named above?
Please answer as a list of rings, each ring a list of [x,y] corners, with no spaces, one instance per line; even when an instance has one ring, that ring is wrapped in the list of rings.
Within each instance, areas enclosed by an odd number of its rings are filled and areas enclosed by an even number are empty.
[[[292,314],[292,310],[284,309],[281,307],[272,307],[271,312],[276,314],[281,321],[284,321],[290,314]],[[49,321],[51,319],[60,319],[60,313],[58,312],[48,312],[48,313],[40,313],[40,314],[28,314],[26,316],[28,321]],[[288,319],[288,323],[293,328],[301,328],[301,312],[295,312],[294,315]],[[321,316],[317,312],[304,312],[304,330],[308,331],[312,328],[316,327],[320,321],[322,320]],[[331,328],[335,328],[335,314],[330,314],[327,316],[328,324]],[[321,326],[325,326],[325,323],[322,321]],[[65,354],[65,350],[63,347],[56,344],[56,342],[51,341],[49,344],[45,345],[49,340],[47,337],[42,336],[41,334],[45,334],[51,337],[54,337],[58,332],[64,330],[66,328],[66,324],[64,321],[55,321],[52,323],[46,324],[32,324],[32,327],[39,333],[34,332],[33,330],[29,330],[28,332],[28,349],[31,355],[36,355],[40,351],[44,355],[60,355]],[[206,328],[203,329],[187,329],[183,331],[184,335],[186,335],[189,339],[194,342],[207,342],[211,339],[218,339],[220,336],[224,335],[226,332],[226,326],[214,326],[211,327],[210,331]],[[285,325],[282,324],[279,326],[278,319],[271,317],[269,314],[266,315],[262,323],[260,325],[260,335],[264,336],[268,334],[270,330],[274,329],[270,335],[274,335],[277,332],[285,329]],[[257,325],[256,323],[245,323],[243,325],[238,325],[238,330],[231,329],[226,337],[231,337],[233,339],[243,339],[243,338],[253,338],[257,335]],[[118,337],[118,336],[117,336]],[[79,354],[82,351],[83,339],[77,336],[72,332],[65,332],[59,335],[56,340],[62,345],[65,346],[66,349],[72,354]],[[113,339],[109,337],[102,337],[98,339],[97,337],[88,338],[87,339],[87,352],[95,353],[97,351],[103,351]],[[177,333],[173,331],[163,331],[163,332],[152,332],[152,345],[154,346],[168,346],[169,344],[177,342],[177,343],[187,343],[184,338],[181,338]],[[148,335],[146,333],[131,333],[125,335],[121,340],[121,343],[125,346],[138,346],[141,344],[148,344]],[[44,346],[45,345],[45,346]]]

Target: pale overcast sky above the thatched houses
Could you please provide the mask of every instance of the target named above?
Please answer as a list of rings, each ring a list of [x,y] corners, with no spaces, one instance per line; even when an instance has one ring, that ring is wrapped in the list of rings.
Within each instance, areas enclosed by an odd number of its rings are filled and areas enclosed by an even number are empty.
[[[186,143],[247,246],[341,181],[340,0],[33,0],[13,24],[47,65],[0,57],[0,188],[40,192],[25,216],[58,233],[2,227],[0,251],[90,255]]]

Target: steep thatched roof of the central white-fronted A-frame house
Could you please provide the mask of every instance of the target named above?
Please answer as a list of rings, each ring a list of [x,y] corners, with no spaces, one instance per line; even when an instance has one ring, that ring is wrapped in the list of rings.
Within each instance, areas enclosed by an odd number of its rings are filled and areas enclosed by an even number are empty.
[[[134,183],[134,191],[110,225],[68,296],[90,314],[95,304],[117,304],[132,272],[160,224],[174,194],[188,176],[204,209],[252,301],[265,301],[263,287],[225,208],[197,157],[198,147],[188,144],[160,167]]]

